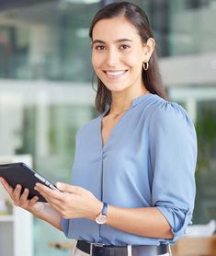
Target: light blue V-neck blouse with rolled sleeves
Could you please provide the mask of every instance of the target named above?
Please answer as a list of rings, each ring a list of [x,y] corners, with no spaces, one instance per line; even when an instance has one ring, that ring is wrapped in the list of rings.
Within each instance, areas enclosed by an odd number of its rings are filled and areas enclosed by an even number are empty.
[[[178,104],[149,93],[132,101],[103,146],[105,114],[76,134],[72,184],[110,205],[156,207],[172,227],[174,239],[137,236],[85,218],[63,219],[65,235],[119,246],[174,243],[191,224],[194,208],[197,137],[193,123]]]

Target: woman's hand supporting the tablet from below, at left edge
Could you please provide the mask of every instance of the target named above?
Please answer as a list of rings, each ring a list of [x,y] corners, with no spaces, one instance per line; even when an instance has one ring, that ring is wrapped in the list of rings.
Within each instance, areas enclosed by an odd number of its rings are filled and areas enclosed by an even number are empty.
[[[6,192],[9,193],[11,199],[16,206],[19,206],[33,215],[41,215],[44,211],[44,203],[38,202],[38,196],[34,196],[32,199],[28,199],[28,189],[26,188],[21,193],[22,186],[17,184],[16,188],[12,188],[4,178],[0,177],[0,181],[5,188]]]

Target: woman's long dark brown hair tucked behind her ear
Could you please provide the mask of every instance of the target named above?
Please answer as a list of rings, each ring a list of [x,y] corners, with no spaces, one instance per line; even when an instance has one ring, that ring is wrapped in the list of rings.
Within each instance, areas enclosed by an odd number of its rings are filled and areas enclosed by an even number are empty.
[[[153,38],[153,31],[151,29],[148,17],[144,13],[144,11],[139,6],[136,6],[129,2],[120,2],[104,6],[97,12],[96,16],[92,20],[89,29],[89,37],[91,38],[91,40],[93,29],[99,20],[118,16],[123,16],[129,22],[131,22],[131,24],[137,29],[143,43],[145,43],[149,38]],[[163,99],[166,99],[165,87],[162,83],[162,78],[157,63],[157,54],[155,51],[153,51],[153,54],[149,60],[148,70],[142,70],[142,81],[148,91],[153,94],[157,94]],[[105,111],[106,106],[110,105],[111,101],[111,92],[102,83],[99,77],[97,77],[97,111]]]

